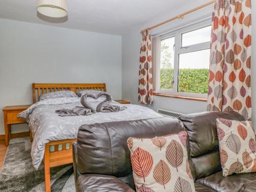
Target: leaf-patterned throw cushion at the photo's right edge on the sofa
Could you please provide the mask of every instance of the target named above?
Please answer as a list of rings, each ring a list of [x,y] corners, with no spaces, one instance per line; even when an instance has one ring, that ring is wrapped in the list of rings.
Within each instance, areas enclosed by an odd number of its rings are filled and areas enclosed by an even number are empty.
[[[252,122],[218,118],[217,128],[223,176],[256,172]]]

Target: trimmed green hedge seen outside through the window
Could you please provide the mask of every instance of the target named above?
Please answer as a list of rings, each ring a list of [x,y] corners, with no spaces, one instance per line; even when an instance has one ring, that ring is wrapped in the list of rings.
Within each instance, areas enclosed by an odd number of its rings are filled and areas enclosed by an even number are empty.
[[[208,93],[208,69],[180,69],[179,92]],[[163,68],[160,71],[161,89],[172,89],[173,69]]]

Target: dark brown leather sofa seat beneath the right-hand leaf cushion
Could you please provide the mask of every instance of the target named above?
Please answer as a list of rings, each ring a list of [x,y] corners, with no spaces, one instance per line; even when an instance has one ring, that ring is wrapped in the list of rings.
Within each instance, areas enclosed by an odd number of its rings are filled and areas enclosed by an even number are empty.
[[[256,173],[236,174],[223,177],[222,172],[212,174],[196,181],[218,192],[256,191]]]

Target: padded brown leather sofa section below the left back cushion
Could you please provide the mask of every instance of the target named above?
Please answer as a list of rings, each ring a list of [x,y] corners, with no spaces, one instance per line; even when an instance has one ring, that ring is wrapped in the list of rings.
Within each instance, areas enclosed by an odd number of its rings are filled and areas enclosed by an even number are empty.
[[[84,174],[77,178],[77,192],[83,191],[127,191],[135,192],[129,185],[114,176]]]

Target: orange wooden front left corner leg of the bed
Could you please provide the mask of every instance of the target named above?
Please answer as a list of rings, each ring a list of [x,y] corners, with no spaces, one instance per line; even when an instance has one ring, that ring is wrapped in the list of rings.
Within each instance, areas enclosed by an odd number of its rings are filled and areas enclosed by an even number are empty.
[[[51,175],[50,175],[50,145],[49,143],[46,144],[45,148],[45,187],[46,192],[51,192]]]

